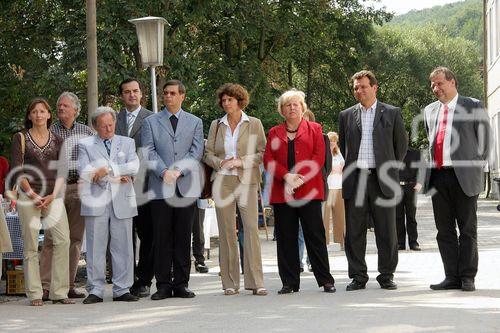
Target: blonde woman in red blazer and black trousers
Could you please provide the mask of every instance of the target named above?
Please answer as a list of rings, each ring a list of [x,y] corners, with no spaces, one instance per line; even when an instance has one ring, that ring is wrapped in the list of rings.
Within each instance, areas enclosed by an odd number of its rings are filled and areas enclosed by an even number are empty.
[[[321,214],[325,142],[321,125],[302,119],[305,110],[303,92],[290,90],[281,95],[278,112],[285,122],[271,128],[264,153],[264,165],[273,177],[270,203],[283,283],[278,294],[300,288],[299,219],[316,281],[325,292],[335,292]]]

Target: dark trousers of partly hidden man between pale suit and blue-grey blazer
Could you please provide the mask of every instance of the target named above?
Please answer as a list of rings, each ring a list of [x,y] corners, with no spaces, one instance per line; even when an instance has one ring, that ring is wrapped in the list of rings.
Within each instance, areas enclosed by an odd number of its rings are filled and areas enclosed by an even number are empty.
[[[148,203],[137,207],[138,214],[133,220],[134,284],[151,286],[154,276],[153,221]],[[136,239],[139,238],[139,262],[136,264]]]

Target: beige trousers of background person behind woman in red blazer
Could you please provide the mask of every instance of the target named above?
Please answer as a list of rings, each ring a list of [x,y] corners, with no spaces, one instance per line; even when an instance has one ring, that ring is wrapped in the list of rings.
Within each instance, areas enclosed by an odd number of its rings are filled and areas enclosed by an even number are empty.
[[[323,223],[325,225],[326,244],[330,243],[330,223],[333,219],[333,241],[344,246],[345,234],[345,213],[344,199],[342,199],[342,189],[328,190],[328,199],[326,201]]]

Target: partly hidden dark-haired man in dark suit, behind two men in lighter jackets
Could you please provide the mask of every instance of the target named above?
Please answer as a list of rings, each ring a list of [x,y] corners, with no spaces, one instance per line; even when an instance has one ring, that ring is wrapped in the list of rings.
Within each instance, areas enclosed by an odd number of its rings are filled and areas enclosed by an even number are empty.
[[[144,119],[151,116],[153,112],[141,106],[142,89],[141,83],[135,78],[123,80],[119,86],[120,99],[125,108],[117,116],[116,134],[128,136],[135,140],[135,147],[138,150],[139,158],[142,160],[141,128]],[[141,161],[142,162],[142,161]],[[147,165],[141,163],[138,177],[134,181],[135,193],[137,194],[138,215],[133,222],[133,245],[134,245],[134,284],[130,288],[130,293],[138,297],[149,296],[151,280],[154,276],[153,266],[153,225],[151,222],[151,212],[148,203],[147,193]],[[136,239],[140,240],[139,262],[136,265]]]

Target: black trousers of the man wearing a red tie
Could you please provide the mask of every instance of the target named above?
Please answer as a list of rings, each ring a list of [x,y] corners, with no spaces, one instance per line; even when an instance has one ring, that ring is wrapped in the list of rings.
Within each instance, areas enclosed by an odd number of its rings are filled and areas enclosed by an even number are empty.
[[[478,265],[477,195],[469,197],[462,191],[453,169],[432,170],[430,185],[437,190],[432,207],[446,277],[474,279]]]

